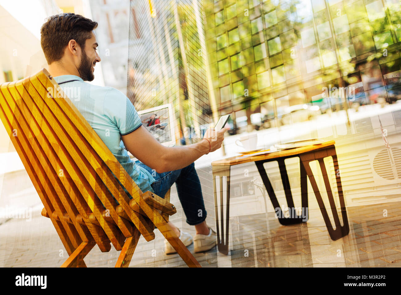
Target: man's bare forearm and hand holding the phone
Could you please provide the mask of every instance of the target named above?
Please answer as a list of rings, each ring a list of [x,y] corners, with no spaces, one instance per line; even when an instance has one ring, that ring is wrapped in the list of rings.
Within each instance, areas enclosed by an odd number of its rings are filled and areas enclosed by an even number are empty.
[[[122,135],[126,149],[139,161],[162,173],[184,168],[203,155],[220,148],[224,139],[223,128],[213,132],[209,129],[201,142],[188,146],[167,147],[156,140],[144,126]],[[210,142],[210,144],[209,144]]]

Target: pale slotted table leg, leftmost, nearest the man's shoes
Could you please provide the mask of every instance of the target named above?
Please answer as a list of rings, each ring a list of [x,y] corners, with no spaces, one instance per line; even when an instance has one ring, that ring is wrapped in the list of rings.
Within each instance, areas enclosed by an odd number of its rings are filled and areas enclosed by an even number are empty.
[[[212,166],[213,190],[215,194],[215,217],[217,248],[222,254],[228,254],[229,208],[230,208],[230,166]],[[220,189],[216,189],[216,176],[219,177]],[[227,177],[226,197],[223,196],[223,177]]]

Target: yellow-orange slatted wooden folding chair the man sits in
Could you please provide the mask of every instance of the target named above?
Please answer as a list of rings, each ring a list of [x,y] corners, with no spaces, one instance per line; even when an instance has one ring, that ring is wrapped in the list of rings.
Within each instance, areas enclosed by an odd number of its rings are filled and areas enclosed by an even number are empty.
[[[61,267],[86,267],[93,246],[108,252],[110,242],[121,250],[115,267],[128,267],[154,226],[189,267],[200,267],[167,224],[176,213],[169,193],[142,193],[46,69],[0,85],[0,118],[69,254]]]

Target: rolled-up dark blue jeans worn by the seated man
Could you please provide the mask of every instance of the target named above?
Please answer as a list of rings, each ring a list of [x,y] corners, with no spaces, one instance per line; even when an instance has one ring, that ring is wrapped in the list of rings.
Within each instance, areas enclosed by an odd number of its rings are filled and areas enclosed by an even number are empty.
[[[206,219],[205,203],[201,189],[201,182],[195,170],[195,164],[192,163],[182,169],[168,171],[164,173],[156,173],[144,163],[136,162],[137,165],[144,167],[152,174],[155,179],[152,183],[154,193],[164,198],[166,192],[173,183],[176,184],[178,198],[186,216],[186,223],[189,225],[200,224]],[[156,174],[156,176],[154,176]]]

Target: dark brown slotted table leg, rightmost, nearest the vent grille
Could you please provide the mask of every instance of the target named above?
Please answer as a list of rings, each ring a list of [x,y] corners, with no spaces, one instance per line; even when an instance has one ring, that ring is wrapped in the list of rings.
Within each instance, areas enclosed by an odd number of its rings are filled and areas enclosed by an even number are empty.
[[[320,211],[322,212],[322,216],[324,219],[324,222],[327,226],[327,230],[329,232],[330,238],[335,241],[338,240],[339,238],[342,238],[343,236],[346,236],[349,232],[349,226],[348,226],[348,219],[346,216],[346,209],[345,209],[345,204],[344,204],[344,196],[342,195],[342,187],[341,187],[341,179],[339,177],[336,177],[337,179],[337,188],[338,188],[338,197],[340,199],[340,205],[341,205],[341,213],[342,213],[342,220],[344,223],[344,226],[341,226],[340,220],[338,218],[338,213],[336,209],[336,205],[334,203],[334,197],[332,193],[332,189],[330,186],[330,182],[328,179],[328,175],[326,172],[326,167],[324,165],[324,158],[330,156],[333,157],[333,162],[334,162],[334,173],[336,173],[336,169],[338,169],[338,162],[337,162],[337,156],[332,154],[332,149],[328,150],[328,154],[322,157],[316,157],[316,155],[313,155],[311,157],[310,154],[303,154],[300,155],[300,162],[302,163],[302,166],[304,167],[306,174],[308,175],[310,184],[312,185],[313,191],[315,193],[316,199],[318,201]],[[334,154],[335,154],[335,149],[334,149]],[[326,207],[324,206],[322,196],[320,194],[320,191],[318,189],[318,185],[316,183],[315,177],[312,173],[312,169],[309,166],[310,161],[318,160],[320,164],[320,170],[322,171],[323,179],[324,179],[324,184],[326,186],[326,191],[330,203],[330,207],[332,210],[333,218],[334,218],[334,224],[336,225],[336,229],[333,229],[333,226],[330,222],[330,219],[327,214]]]

